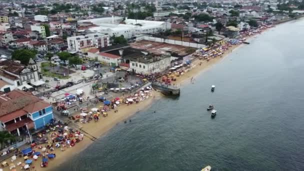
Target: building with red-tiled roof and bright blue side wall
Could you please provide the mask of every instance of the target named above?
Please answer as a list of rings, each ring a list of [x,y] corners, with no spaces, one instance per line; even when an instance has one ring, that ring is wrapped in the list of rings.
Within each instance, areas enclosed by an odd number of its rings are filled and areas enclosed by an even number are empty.
[[[42,99],[21,90],[0,95],[0,130],[14,135],[27,135],[53,119],[52,107]]]

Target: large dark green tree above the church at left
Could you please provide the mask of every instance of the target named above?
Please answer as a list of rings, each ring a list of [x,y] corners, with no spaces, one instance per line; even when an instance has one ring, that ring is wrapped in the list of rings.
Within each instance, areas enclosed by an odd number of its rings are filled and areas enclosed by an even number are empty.
[[[34,59],[36,51],[28,49],[17,49],[11,53],[11,58],[19,60],[22,64],[27,65],[30,58]]]

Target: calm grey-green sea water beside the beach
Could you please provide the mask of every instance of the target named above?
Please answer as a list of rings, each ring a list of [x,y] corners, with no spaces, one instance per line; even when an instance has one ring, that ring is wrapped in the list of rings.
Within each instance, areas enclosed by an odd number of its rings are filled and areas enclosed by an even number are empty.
[[[304,170],[303,30],[263,32],[56,170]]]

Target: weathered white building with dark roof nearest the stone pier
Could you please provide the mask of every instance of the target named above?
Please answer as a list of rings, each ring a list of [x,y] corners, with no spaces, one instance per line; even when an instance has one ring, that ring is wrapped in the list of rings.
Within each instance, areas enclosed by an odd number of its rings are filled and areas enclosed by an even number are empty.
[[[130,69],[132,72],[151,74],[162,72],[170,67],[170,56],[147,54],[136,58],[130,58]]]

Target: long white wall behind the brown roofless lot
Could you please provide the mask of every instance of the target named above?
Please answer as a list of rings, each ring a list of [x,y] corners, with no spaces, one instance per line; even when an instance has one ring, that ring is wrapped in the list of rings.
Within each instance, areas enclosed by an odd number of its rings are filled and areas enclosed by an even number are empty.
[[[194,48],[206,47],[206,45],[204,45],[204,44],[193,43],[193,42],[188,42],[188,41],[180,41],[180,40],[171,40],[171,39],[159,38],[159,37],[152,37],[152,36],[148,36],[148,35],[136,37],[136,41],[140,41],[142,39],[149,40],[149,41],[163,42],[163,43],[168,43],[168,44],[182,45],[182,46],[187,46],[187,47],[194,47]]]

